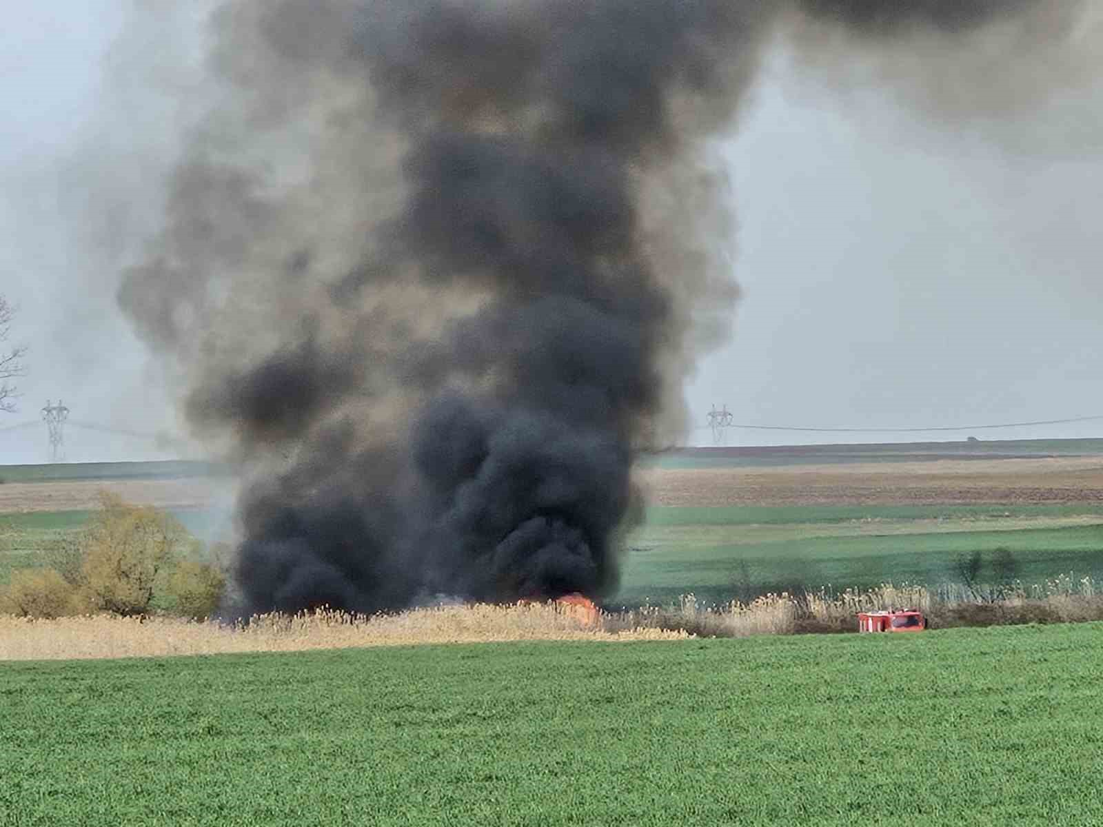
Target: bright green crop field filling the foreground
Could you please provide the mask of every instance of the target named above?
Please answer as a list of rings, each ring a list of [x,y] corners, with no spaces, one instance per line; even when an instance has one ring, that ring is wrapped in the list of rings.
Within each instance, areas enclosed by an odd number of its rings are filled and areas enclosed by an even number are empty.
[[[1099,824],[1103,625],[11,664],[54,825]]]

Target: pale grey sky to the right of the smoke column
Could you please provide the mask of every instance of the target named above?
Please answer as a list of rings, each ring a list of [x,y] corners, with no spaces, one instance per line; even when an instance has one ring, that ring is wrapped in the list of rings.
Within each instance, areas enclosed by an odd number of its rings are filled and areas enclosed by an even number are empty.
[[[1084,117],[1103,112],[1097,93],[950,123],[892,89],[834,93],[784,54],[763,79],[726,148],[745,297],[688,385],[695,409],[856,428],[1103,414],[1103,128]],[[1094,437],[1103,421],[977,434]]]

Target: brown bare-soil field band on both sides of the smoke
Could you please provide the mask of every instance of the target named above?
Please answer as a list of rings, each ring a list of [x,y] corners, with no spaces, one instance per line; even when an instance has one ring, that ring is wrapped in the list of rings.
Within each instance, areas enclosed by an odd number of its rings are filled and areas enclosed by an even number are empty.
[[[1103,458],[939,460],[777,468],[646,469],[636,481],[654,505],[908,505],[1103,502]],[[98,506],[107,490],[167,508],[225,504],[226,479],[7,483],[0,514]]]

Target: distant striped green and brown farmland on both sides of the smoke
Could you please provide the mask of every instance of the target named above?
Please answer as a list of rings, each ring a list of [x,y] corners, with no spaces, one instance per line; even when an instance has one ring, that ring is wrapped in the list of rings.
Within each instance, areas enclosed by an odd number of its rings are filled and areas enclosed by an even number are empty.
[[[693,449],[641,466],[651,505],[609,606],[886,580],[934,587],[956,579],[962,557],[999,548],[1028,586],[1070,572],[1103,579],[1101,440]],[[0,468],[40,480],[0,485],[0,583],[74,530],[103,484],[172,509],[204,539],[229,539],[232,485],[186,476],[201,470]]]

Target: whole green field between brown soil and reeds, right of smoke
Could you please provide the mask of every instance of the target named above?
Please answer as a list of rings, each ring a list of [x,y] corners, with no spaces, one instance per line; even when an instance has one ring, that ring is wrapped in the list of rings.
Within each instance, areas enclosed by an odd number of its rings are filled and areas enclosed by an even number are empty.
[[[973,551],[1011,552],[1016,576],[1103,578],[1103,504],[652,507],[632,531],[611,605],[705,602],[886,581],[935,587]],[[982,571],[982,577],[987,573]]]

